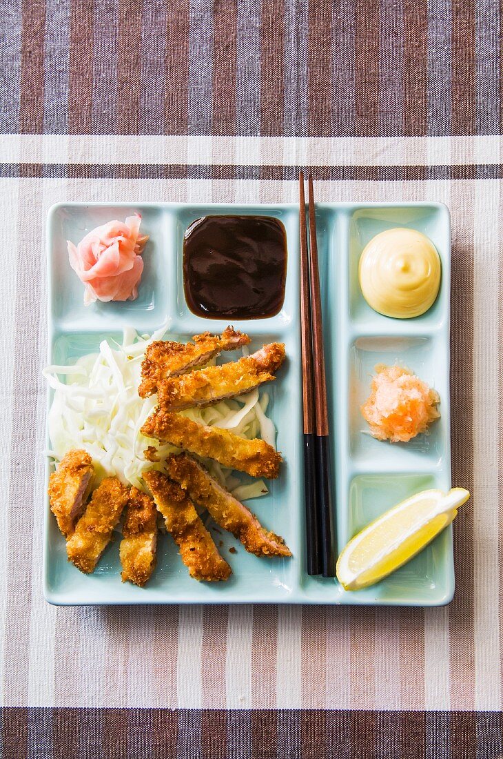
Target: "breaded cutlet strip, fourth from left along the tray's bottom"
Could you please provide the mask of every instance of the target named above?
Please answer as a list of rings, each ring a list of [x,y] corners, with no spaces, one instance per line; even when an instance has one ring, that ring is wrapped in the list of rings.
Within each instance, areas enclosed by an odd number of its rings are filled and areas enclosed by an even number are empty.
[[[230,566],[218,553],[213,538],[180,485],[155,470],[144,472],[143,479],[164,517],[167,531],[180,548],[189,575],[207,582],[227,580]]]

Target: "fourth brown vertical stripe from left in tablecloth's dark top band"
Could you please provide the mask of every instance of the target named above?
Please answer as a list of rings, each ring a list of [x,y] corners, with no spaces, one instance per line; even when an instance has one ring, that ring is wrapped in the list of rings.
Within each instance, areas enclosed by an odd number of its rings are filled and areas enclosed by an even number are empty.
[[[167,3],[164,134],[187,134],[189,124],[189,0]]]

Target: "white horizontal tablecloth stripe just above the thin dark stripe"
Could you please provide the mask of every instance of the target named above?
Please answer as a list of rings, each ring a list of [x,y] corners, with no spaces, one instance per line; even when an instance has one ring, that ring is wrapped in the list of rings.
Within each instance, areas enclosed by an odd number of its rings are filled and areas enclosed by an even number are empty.
[[[205,137],[2,134],[2,163],[395,166],[498,163],[503,137]],[[257,146],[260,150],[256,150]],[[397,154],[398,146],[401,148]],[[93,180],[86,180],[92,184]]]

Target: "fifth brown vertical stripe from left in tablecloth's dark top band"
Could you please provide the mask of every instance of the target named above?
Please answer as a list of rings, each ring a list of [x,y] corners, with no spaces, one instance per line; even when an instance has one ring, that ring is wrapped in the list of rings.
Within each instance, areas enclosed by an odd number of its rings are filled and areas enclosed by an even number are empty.
[[[213,134],[236,134],[235,0],[216,0],[214,5]]]

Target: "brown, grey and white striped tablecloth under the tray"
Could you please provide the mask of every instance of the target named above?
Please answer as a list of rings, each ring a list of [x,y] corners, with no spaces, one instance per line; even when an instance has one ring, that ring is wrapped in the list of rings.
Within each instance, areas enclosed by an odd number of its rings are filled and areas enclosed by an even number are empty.
[[[0,7],[3,757],[501,757],[499,2]],[[48,206],[295,201],[300,167],[320,201],[451,208],[455,600],[48,606]]]

